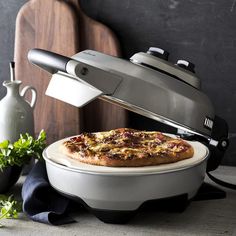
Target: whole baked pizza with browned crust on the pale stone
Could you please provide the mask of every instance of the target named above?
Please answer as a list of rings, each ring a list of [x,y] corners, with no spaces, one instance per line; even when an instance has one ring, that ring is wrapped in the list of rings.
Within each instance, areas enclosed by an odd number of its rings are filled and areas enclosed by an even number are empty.
[[[80,162],[113,167],[173,163],[194,154],[193,147],[183,139],[129,128],[82,133],[64,141],[60,148]]]

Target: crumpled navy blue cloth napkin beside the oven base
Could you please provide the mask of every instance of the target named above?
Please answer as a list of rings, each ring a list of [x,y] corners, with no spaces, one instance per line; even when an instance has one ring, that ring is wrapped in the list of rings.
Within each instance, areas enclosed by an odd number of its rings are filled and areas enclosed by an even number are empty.
[[[22,188],[23,211],[33,221],[61,225],[75,222],[67,215],[70,200],[56,192],[48,182],[44,161],[38,161]]]

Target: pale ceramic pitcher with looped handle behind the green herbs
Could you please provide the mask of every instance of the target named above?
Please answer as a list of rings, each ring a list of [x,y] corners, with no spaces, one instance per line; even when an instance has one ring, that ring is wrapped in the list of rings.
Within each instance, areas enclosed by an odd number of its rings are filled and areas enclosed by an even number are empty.
[[[37,100],[37,92],[32,86],[24,87],[20,92],[21,81],[4,81],[6,96],[0,101],[0,142],[14,142],[20,134],[29,133],[34,137],[33,110]],[[27,91],[31,91],[31,101],[25,99]]]

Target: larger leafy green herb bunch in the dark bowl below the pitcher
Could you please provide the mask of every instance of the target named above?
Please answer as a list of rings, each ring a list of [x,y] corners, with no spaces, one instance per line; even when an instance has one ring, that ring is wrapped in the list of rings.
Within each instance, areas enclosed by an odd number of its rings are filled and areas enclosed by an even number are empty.
[[[46,147],[46,133],[42,130],[37,139],[28,133],[21,134],[19,140],[11,144],[8,140],[0,143],[0,170],[9,166],[23,166],[31,158],[42,159]]]

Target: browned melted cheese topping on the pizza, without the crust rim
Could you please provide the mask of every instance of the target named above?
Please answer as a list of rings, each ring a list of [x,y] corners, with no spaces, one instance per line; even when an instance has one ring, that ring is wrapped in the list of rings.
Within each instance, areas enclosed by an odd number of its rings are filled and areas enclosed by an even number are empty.
[[[152,158],[175,155],[190,145],[182,139],[173,139],[155,131],[117,129],[99,133],[83,133],[66,142],[66,146],[82,156],[106,156],[111,159]],[[73,148],[73,147],[74,148]]]

